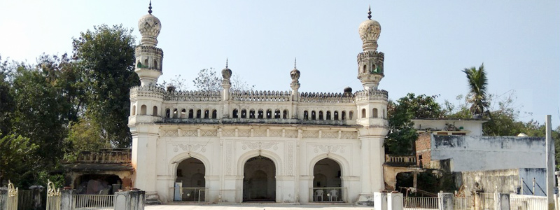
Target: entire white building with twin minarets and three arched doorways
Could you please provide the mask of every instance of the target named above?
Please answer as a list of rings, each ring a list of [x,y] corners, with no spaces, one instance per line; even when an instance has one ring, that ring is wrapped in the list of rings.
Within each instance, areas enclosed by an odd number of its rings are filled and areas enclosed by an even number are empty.
[[[371,15],[358,28],[357,92],[299,92],[296,66],[290,91],[234,91],[227,64],[221,91],[164,89],[161,27],[151,10],[139,20],[141,86],[130,90],[134,187],[148,200],[367,202],[384,189],[387,92]]]

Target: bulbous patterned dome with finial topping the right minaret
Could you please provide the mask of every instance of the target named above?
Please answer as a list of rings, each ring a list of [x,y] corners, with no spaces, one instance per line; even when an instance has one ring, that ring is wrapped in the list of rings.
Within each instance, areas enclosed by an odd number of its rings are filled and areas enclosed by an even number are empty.
[[[377,51],[377,39],[379,34],[381,34],[381,25],[372,18],[371,6],[367,12],[367,20],[360,24],[358,27],[358,33],[360,33],[360,38],[362,38],[364,51]]]

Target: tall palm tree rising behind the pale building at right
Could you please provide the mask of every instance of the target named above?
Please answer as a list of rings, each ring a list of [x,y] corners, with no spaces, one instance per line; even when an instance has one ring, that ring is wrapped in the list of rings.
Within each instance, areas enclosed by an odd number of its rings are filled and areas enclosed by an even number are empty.
[[[486,78],[486,71],[484,71],[484,63],[478,67],[472,66],[463,69],[467,75],[467,82],[470,89],[468,94],[468,101],[472,103],[470,106],[470,113],[474,118],[482,118],[484,108],[488,107],[486,102],[486,88],[488,87],[488,79]]]

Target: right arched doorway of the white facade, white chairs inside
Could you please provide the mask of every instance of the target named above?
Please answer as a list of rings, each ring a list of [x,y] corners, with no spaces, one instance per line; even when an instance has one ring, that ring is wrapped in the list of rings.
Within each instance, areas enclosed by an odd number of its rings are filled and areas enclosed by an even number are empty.
[[[324,158],[313,167],[313,201],[341,202],[342,176],[340,165],[335,160]]]

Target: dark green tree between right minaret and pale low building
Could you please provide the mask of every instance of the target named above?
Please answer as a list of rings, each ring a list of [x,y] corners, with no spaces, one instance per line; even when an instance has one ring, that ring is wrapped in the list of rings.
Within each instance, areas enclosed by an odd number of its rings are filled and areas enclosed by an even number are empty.
[[[409,93],[405,97],[390,101],[387,106],[389,132],[385,140],[386,153],[397,155],[412,154],[413,144],[418,135],[414,129],[413,118],[442,118],[440,104],[435,102],[437,96],[416,96]]]

